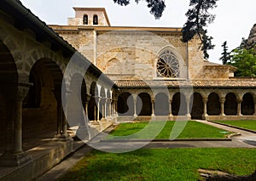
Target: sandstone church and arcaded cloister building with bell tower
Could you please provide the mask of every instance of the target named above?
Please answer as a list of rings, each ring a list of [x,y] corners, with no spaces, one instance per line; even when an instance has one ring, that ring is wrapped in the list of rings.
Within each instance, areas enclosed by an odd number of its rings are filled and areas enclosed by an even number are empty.
[[[91,8],[87,16],[83,12],[88,8],[76,9],[81,17],[75,22],[90,23]],[[186,44],[178,38],[180,29],[149,28],[169,41],[166,45],[154,37],[152,47],[145,42],[152,33],[147,37],[127,28],[100,41],[103,32],[120,28],[110,26],[105,9],[92,10],[102,14],[93,15],[93,27],[50,28],[20,1],[0,2],[0,179],[37,178],[84,144],[77,138],[88,141],[113,122],[162,116],[170,121],[177,116],[256,118],[255,79],[230,77],[236,68],[201,59],[196,38]],[[105,26],[98,25],[102,22]],[[157,53],[131,47],[106,50],[109,42],[131,41],[132,36],[141,36],[144,49]]]

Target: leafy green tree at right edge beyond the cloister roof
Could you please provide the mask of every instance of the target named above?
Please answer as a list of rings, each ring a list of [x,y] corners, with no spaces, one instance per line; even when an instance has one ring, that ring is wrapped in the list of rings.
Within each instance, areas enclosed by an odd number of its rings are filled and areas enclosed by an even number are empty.
[[[236,66],[236,76],[256,76],[254,49],[236,48],[230,54],[230,65]]]

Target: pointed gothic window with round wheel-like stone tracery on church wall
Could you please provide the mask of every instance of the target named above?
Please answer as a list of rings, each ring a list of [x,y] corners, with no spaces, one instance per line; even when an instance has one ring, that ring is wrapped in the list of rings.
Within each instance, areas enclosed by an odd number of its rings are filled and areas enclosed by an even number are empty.
[[[156,69],[158,77],[176,78],[179,76],[179,64],[170,49],[161,52],[156,63]]]

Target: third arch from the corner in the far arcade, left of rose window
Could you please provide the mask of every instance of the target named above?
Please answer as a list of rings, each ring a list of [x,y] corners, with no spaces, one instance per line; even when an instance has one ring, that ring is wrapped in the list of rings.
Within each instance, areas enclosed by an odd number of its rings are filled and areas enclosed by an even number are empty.
[[[166,93],[157,93],[154,98],[154,115],[168,116],[169,115],[169,98]]]

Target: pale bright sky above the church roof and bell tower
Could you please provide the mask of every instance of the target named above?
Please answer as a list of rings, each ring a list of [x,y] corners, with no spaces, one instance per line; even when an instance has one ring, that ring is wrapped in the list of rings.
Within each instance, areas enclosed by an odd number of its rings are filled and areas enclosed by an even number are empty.
[[[112,26],[183,27],[186,22],[185,14],[189,9],[189,0],[166,0],[162,17],[155,20],[143,0],[138,4],[131,0],[131,3],[124,7],[113,3],[113,0],[20,1],[48,25],[67,25],[67,18],[74,17],[73,7],[101,7],[106,8]],[[256,24],[256,1],[219,0],[217,5],[217,8],[210,11],[216,14],[216,19],[207,27],[215,48],[208,53],[210,61],[221,64],[219,57],[223,52],[223,42],[227,41],[229,51],[238,47],[241,38],[247,38]]]

